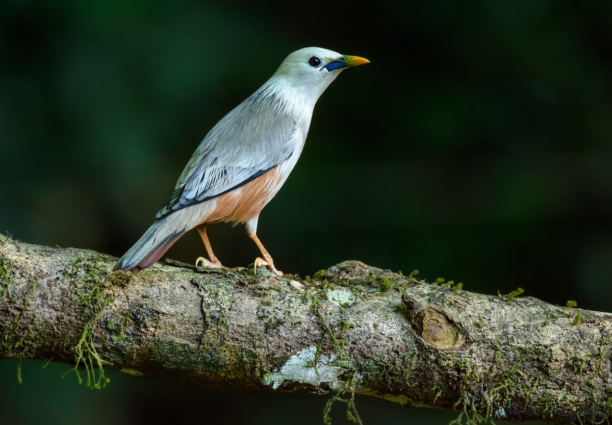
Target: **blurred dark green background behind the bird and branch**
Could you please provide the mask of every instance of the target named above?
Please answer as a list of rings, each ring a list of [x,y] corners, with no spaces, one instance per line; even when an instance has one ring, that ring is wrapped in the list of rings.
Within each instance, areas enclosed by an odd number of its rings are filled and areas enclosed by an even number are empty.
[[[611,17],[607,1],[4,1],[0,230],[122,255],[215,122],[288,53],[316,45],[371,64],[321,97],[261,215],[279,269],[304,277],[357,259],[610,311]],[[242,227],[209,234],[225,265],[258,255]],[[168,255],[204,252],[193,232]],[[16,366],[0,362],[12,424],[321,423],[326,402],[112,371],[91,391],[62,380],[67,366],[37,362],[18,385]],[[455,416],[357,403],[370,424]]]

